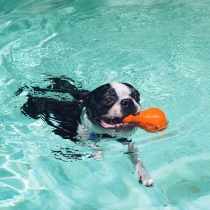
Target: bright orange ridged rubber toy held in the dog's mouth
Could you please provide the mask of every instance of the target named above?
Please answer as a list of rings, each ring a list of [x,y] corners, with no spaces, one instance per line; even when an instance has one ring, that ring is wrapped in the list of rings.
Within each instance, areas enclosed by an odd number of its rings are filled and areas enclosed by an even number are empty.
[[[141,111],[139,115],[129,115],[123,119],[123,123],[131,122],[148,132],[163,131],[168,126],[165,113],[158,108],[150,108]]]

